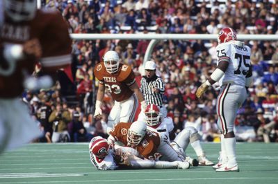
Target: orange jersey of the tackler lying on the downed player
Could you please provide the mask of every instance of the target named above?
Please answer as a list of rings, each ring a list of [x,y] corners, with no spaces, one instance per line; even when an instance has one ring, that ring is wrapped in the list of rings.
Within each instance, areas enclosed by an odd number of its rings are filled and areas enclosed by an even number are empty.
[[[127,142],[127,131],[131,127],[131,122],[119,122],[113,130],[111,130],[110,135],[116,141],[122,142],[125,146],[129,146]],[[154,160],[156,158],[156,151],[160,145],[160,136],[153,131],[147,131],[145,137],[136,147],[136,149],[144,158]]]

